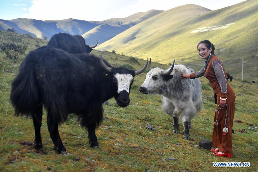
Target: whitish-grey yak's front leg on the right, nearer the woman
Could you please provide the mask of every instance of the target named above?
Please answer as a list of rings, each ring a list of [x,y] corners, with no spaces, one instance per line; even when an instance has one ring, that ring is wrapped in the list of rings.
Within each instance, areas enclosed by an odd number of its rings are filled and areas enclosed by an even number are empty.
[[[182,123],[184,125],[184,139],[189,140],[189,128],[191,128],[191,119],[195,117],[197,111],[196,108],[192,105],[193,103],[187,103],[187,108],[183,110],[182,113]],[[191,106],[192,105],[192,106]]]

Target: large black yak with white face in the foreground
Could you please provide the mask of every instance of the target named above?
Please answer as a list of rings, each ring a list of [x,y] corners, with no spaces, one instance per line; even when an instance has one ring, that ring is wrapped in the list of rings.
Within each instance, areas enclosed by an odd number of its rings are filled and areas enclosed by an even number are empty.
[[[130,103],[133,78],[147,67],[133,71],[113,68],[108,62],[89,54],[69,54],[50,46],[31,51],[20,65],[11,84],[10,102],[15,114],[32,115],[35,128],[34,148],[41,149],[40,127],[42,107],[47,111],[47,125],[54,149],[66,152],[58,132],[58,124],[70,113],[78,115],[88,129],[89,144],[99,148],[95,129],[102,121],[102,103],[115,97],[117,105]]]

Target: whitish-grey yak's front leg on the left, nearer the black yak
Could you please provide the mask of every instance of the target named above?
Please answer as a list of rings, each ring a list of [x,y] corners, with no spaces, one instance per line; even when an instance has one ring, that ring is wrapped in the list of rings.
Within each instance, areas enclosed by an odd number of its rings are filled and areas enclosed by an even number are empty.
[[[179,133],[179,116],[181,112],[175,113],[175,107],[172,102],[170,102],[167,98],[163,97],[162,100],[162,109],[163,111],[168,114],[169,116],[173,117],[173,132],[178,134]]]

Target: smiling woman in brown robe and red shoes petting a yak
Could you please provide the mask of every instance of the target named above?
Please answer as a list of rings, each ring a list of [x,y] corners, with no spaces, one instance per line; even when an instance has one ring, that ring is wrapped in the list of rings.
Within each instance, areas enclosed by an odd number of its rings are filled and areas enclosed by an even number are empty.
[[[198,53],[205,59],[204,67],[192,74],[181,74],[181,78],[195,79],[205,76],[215,91],[215,103],[217,108],[214,116],[214,128],[212,133],[212,149],[217,156],[232,154],[232,127],[235,111],[235,94],[228,81],[221,60],[215,56],[214,45],[209,40],[203,40],[197,45]]]

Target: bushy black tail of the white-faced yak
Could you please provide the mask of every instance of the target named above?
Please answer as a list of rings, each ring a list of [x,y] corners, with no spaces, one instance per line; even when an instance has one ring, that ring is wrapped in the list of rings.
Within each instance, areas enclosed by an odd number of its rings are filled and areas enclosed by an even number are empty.
[[[11,84],[10,102],[15,108],[15,115],[32,114],[40,104],[40,92],[36,82],[36,58],[25,58],[19,73]]]

